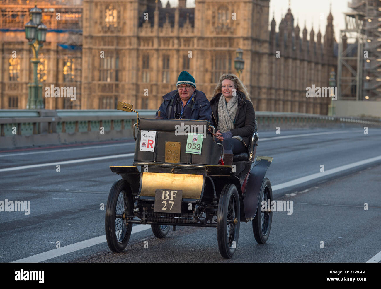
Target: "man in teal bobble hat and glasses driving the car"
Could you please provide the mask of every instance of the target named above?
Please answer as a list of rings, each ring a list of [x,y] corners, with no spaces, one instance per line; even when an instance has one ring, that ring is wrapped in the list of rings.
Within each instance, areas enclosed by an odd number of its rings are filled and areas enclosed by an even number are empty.
[[[170,118],[176,120],[208,120],[212,122],[212,111],[205,93],[196,89],[193,76],[182,71],[176,83],[177,89],[163,96],[155,118]]]

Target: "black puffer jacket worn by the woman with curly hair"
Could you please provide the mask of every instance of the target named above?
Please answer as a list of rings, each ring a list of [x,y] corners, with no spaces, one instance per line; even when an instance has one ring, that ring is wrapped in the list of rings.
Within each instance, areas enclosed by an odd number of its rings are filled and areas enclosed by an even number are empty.
[[[218,128],[218,102],[222,93],[217,94],[210,100],[212,108],[212,120],[215,128]],[[238,109],[235,115],[234,128],[231,129],[233,136],[242,137],[245,146],[249,144],[251,136],[253,136],[255,128],[255,111],[253,104],[245,98],[245,94],[237,91],[238,96]]]

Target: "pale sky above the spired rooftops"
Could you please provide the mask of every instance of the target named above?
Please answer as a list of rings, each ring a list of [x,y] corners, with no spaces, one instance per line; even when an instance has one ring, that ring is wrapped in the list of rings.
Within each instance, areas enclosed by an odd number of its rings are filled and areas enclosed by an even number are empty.
[[[169,0],[171,7],[176,7],[178,5],[178,0]],[[233,1],[232,1],[233,2]],[[270,13],[269,22],[271,22],[272,16],[274,14],[275,21],[277,23],[277,30],[279,27],[279,22],[282,16],[287,13],[289,0],[270,0]],[[333,31],[335,32],[336,41],[339,42],[340,29],[345,28],[344,22],[344,12],[350,11],[347,3],[351,0],[290,0],[291,13],[295,19],[295,26],[299,19],[300,31],[304,28],[304,23],[306,23],[306,28],[308,31],[307,39],[309,38],[309,32],[313,24],[315,31],[315,38],[317,31],[319,30],[322,35],[325,34],[325,26],[327,25],[327,16],[330,12],[330,4],[332,3],[332,15],[333,15]],[[167,0],[162,0],[165,6]],[[194,0],[187,0],[187,7],[194,7]],[[323,20],[321,20],[321,13]]]

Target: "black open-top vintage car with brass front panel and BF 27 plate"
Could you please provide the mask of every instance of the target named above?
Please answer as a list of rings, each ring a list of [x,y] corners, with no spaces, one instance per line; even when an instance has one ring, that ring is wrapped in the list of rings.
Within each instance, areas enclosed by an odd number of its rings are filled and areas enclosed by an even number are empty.
[[[124,102],[118,109],[136,112]],[[208,128],[210,133],[183,128]],[[234,155],[232,166],[221,165],[223,147],[215,142],[215,128],[206,120],[138,114],[133,133],[133,166],[110,166],[122,177],[107,200],[105,227],[111,251],[125,249],[133,224],[151,225],[157,238],[164,238],[170,226],[216,227],[224,258],[231,258],[238,246],[240,222],[251,221],[255,240],[266,243],[272,212],[261,203],[273,200],[270,181],[264,177],[272,157],[255,158],[257,129],[247,152]]]

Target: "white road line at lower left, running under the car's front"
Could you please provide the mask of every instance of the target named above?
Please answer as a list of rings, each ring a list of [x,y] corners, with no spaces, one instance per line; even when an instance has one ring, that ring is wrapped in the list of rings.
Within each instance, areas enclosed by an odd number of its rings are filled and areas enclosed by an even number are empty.
[[[150,225],[133,225],[131,234],[138,233],[144,230],[150,229]],[[33,255],[24,259],[13,261],[12,263],[37,263],[43,262],[52,258],[56,258],[65,254],[69,254],[87,247],[98,245],[106,242],[106,235],[91,238],[85,241],[67,245],[61,248],[53,249],[47,252],[43,252],[37,255]]]

